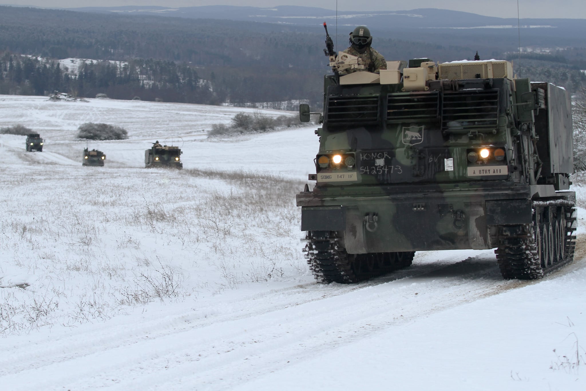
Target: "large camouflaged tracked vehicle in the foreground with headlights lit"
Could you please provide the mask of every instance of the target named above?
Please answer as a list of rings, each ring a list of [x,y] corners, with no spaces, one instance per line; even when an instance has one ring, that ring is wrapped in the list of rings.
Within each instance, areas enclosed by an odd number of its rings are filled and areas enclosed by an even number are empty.
[[[327,41],[326,41],[327,43]],[[567,92],[506,61],[387,62],[380,74],[329,47],[316,181],[297,195],[321,283],[410,266],[415,251],[495,249],[504,278],[533,279],[575,247]]]

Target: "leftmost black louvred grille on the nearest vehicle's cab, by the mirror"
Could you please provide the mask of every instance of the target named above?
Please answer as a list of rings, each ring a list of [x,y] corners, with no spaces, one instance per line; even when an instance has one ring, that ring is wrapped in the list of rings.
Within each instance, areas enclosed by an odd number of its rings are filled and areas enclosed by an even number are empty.
[[[329,97],[328,122],[374,124],[379,121],[379,96]]]

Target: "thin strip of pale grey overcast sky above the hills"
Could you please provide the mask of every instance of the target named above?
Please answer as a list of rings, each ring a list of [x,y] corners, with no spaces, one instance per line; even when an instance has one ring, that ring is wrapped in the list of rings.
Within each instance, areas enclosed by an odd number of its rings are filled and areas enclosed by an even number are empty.
[[[277,5],[314,6],[336,9],[336,0],[0,0],[0,4],[33,5],[42,7],[76,8],[83,6],[159,5],[187,7],[199,5],[250,5],[271,7]],[[443,8],[478,13],[480,15],[517,17],[516,0],[338,0],[342,11],[401,11],[409,8]],[[519,0],[521,18],[581,18],[586,19],[586,0]]]

